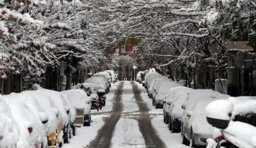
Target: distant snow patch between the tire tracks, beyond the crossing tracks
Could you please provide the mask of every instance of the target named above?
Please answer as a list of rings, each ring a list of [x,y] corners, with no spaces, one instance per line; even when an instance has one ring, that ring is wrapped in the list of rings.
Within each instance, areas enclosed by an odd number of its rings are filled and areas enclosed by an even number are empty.
[[[123,112],[135,112],[139,111],[139,107],[136,104],[133,94],[123,94]]]

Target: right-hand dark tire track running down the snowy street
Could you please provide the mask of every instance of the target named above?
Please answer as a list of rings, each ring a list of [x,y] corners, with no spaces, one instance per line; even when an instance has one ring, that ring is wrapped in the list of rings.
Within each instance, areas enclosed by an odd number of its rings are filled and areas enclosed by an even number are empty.
[[[141,92],[137,84],[132,81],[131,85],[133,86],[133,94],[140,111],[139,118],[137,119],[139,122],[139,131],[141,131],[141,134],[143,135],[146,147],[166,148],[166,145],[158,137],[152,126],[148,105],[142,100],[140,96]]]

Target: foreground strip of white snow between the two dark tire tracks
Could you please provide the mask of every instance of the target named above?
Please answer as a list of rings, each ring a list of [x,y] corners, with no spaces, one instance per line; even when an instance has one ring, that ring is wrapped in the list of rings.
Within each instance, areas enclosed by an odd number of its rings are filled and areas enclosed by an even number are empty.
[[[120,118],[112,138],[112,148],[145,147],[143,136],[139,132],[137,120]]]

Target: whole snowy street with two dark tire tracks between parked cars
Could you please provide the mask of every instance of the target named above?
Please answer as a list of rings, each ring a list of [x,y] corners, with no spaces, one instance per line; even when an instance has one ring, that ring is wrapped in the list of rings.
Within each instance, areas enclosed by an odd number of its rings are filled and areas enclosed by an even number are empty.
[[[181,135],[170,133],[162,122],[162,109],[155,109],[146,89],[133,81],[115,83],[106,96],[106,107],[92,113],[89,127],[64,147],[187,147]],[[110,107],[113,106],[112,110]],[[97,132],[98,131],[98,132]]]

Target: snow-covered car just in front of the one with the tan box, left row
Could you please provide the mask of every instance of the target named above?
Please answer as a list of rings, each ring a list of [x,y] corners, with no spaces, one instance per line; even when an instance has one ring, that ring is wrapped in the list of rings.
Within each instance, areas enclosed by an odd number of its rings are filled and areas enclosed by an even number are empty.
[[[38,89],[38,91],[40,91],[40,93],[48,95],[53,100],[55,106],[57,106],[57,108],[59,109],[63,121],[63,141],[64,143],[68,143],[69,133],[71,131],[71,121],[69,116],[70,108],[64,96],[58,91],[48,89]]]

